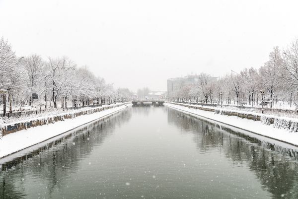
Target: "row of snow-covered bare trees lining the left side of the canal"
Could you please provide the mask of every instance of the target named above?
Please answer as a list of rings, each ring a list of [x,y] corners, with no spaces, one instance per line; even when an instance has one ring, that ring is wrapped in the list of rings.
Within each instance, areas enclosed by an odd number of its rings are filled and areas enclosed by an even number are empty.
[[[2,103],[9,101],[21,109],[24,105],[66,107],[129,100],[132,92],[127,88],[114,89],[101,77],[96,77],[86,66],[77,67],[67,57],[43,60],[39,55],[17,57],[11,45],[0,39],[0,90]],[[62,100],[64,98],[64,100]],[[6,106],[3,108],[5,109]],[[5,111],[5,110],[3,110]]]

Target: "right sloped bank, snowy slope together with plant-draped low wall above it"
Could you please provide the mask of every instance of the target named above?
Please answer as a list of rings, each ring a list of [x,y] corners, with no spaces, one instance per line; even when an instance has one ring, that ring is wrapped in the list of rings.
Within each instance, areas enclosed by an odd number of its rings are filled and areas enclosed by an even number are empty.
[[[205,111],[202,109],[204,107],[169,102],[164,105],[202,118],[236,127],[250,133],[263,135],[298,146],[298,130],[296,128],[298,123],[297,119],[216,108],[208,108],[209,111]]]

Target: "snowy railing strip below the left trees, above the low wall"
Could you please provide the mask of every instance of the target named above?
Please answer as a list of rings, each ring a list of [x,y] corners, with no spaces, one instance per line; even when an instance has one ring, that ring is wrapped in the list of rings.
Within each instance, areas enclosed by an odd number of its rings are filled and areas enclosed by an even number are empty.
[[[108,104],[102,104],[102,105],[110,105],[113,103],[108,103]],[[101,104],[93,104],[93,105],[89,105],[89,106],[77,106],[77,107],[68,107],[68,108],[64,108],[64,109],[60,109],[61,111],[67,111],[67,110],[75,110],[75,109],[81,109],[81,108],[86,108],[86,107],[101,107]],[[29,116],[32,114],[40,114],[40,113],[45,113],[45,112],[49,112],[49,111],[54,111],[54,110],[58,110],[58,109],[46,109],[46,110],[36,110],[36,111],[18,111],[18,112],[12,112],[12,113],[5,113],[5,116],[3,116],[3,114],[0,114],[0,118],[1,117],[7,117],[7,118],[18,118],[21,116]]]

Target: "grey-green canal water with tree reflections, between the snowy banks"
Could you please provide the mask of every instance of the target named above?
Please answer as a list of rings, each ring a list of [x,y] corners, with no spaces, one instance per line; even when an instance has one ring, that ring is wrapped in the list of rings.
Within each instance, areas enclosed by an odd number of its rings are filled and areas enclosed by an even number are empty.
[[[0,199],[298,199],[298,150],[132,107],[1,163]]]

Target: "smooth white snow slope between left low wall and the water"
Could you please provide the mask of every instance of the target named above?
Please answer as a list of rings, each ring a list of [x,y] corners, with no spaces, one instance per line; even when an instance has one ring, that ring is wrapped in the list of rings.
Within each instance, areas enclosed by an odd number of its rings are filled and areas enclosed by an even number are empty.
[[[111,105],[112,106],[112,105]],[[130,105],[106,109],[90,115],[82,115],[73,119],[55,122],[44,126],[33,127],[27,130],[10,133],[0,139],[0,158],[38,144],[62,133],[66,133],[86,123],[98,120],[104,116],[127,108]],[[81,111],[81,110],[80,110]]]

